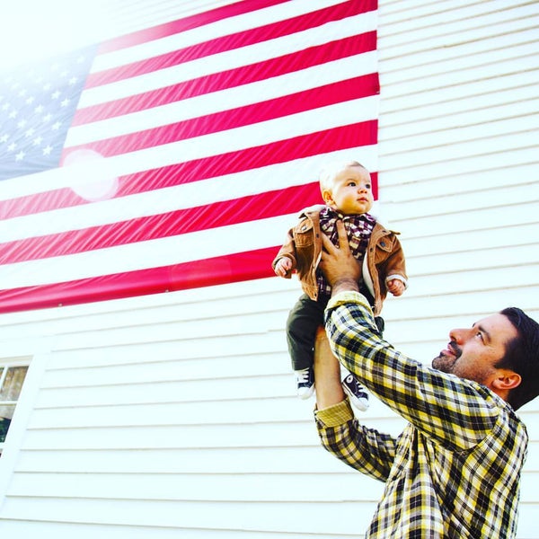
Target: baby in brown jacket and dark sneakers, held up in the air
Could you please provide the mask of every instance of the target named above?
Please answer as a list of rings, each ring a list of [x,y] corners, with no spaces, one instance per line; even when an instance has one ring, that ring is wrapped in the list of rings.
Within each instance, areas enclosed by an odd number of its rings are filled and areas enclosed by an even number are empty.
[[[321,234],[338,245],[335,224],[338,219],[344,222],[350,250],[363,266],[361,292],[371,303],[380,334],[384,320],[379,314],[387,292],[401,296],[408,280],[399,233],[387,230],[368,213],[374,197],[367,169],[357,161],[332,164],[320,175],[320,189],[325,206],[302,210],[299,222],[288,231],[286,243],[272,262],[279,277],[291,278],[296,270],[304,291],[287,319],[288,351],[297,395],[302,399],[314,392],[314,335],[323,325],[323,312],[331,297],[331,287],[318,269]],[[367,410],[368,395],[354,376],[345,376],[342,387],[354,406]]]

